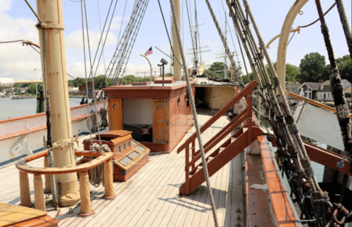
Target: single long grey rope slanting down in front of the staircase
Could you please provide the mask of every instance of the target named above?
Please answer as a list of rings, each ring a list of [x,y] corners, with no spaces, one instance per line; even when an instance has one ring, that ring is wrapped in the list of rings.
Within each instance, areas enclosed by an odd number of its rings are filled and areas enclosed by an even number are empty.
[[[183,47],[182,47],[182,40],[181,40],[181,35],[180,35],[180,26],[178,24],[177,18],[176,18],[176,10],[175,10],[175,4],[173,0],[170,0],[170,4],[171,4],[171,9],[172,9],[172,18],[173,18],[173,22],[175,25],[175,30],[176,30],[176,35],[177,35],[177,42],[179,44],[180,47],[180,54],[181,54],[181,59],[182,59],[182,63],[183,63],[183,70],[184,70],[184,77],[186,78],[187,81],[187,91],[189,94],[193,94],[192,93],[192,89],[191,89],[191,82],[189,81],[189,76],[187,73],[187,63],[186,63],[186,59],[184,56],[184,51],[183,51]],[[210,188],[210,180],[209,180],[209,175],[208,175],[208,166],[206,163],[206,158],[205,158],[205,154],[204,154],[204,149],[203,149],[203,143],[201,140],[201,130],[199,130],[199,123],[198,123],[198,116],[196,114],[196,106],[194,104],[194,97],[193,95],[189,96],[189,100],[191,102],[191,109],[192,109],[192,114],[193,114],[193,118],[194,118],[194,125],[196,128],[196,135],[198,137],[198,142],[199,142],[199,149],[201,152],[201,160],[203,163],[203,171],[204,171],[204,176],[206,177],[206,185],[208,188],[208,194],[209,194],[209,199],[210,199],[210,204],[211,204],[211,209],[213,211],[213,219],[214,219],[214,223],[215,223],[215,227],[219,226],[218,223],[218,217],[216,216],[216,206],[215,206],[215,202],[214,202],[214,198],[213,198],[213,192]]]

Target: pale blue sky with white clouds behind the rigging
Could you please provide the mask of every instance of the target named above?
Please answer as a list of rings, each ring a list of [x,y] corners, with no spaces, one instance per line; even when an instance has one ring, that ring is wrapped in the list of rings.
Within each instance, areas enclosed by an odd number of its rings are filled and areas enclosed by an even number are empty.
[[[34,27],[36,19],[32,15],[32,12],[25,4],[23,0],[0,0],[0,42],[15,40],[15,39],[27,39],[35,43],[38,42],[38,32]],[[35,8],[35,1],[29,0],[30,4]],[[184,0],[180,0],[181,4],[181,15],[182,15],[182,37],[184,37],[184,49],[186,53],[190,53],[191,49],[190,42],[190,32],[187,19],[186,6]],[[194,0],[187,0],[191,2],[191,11],[194,11]],[[106,18],[106,13],[108,12],[108,6],[110,0],[99,1],[101,23]],[[95,49],[99,41],[100,28],[99,28],[99,12],[98,3],[96,0],[86,0],[87,3],[87,13],[88,13],[88,23],[89,23],[89,37],[91,39],[91,49],[92,54],[95,54]],[[105,62],[108,65],[111,60],[113,51],[118,42],[118,35],[120,32],[120,24],[122,20],[122,14],[124,11],[126,0],[119,0],[115,16],[113,18],[113,25],[111,32],[108,35],[108,41],[106,44],[105,51]],[[125,25],[128,23],[128,18],[130,18],[130,13],[132,11],[134,1],[127,0],[127,8],[125,13],[124,22],[122,24],[122,32],[125,29]],[[225,0],[222,0],[225,6]],[[228,17],[228,13],[224,13],[222,9],[222,3],[220,0],[210,0],[210,4],[213,6],[216,17],[219,23],[222,24],[222,29],[225,27],[225,16],[230,22],[230,27],[232,27],[231,18]],[[334,0],[322,1],[323,11],[326,11],[332,4]],[[223,47],[220,42],[218,32],[215,30],[215,25],[210,17],[210,13],[206,6],[205,1],[197,0],[197,12],[198,20],[200,24],[199,32],[201,36],[201,45],[208,46],[206,49],[210,50],[204,52],[202,55],[203,61],[206,65],[210,65],[214,61],[222,61],[222,59],[217,58],[219,54],[222,54]],[[284,23],[284,18],[289,11],[289,8],[294,4],[293,0],[249,0],[251,4],[251,9],[256,17],[258,27],[262,33],[265,42],[268,42],[272,37],[279,34],[282,29],[282,24]],[[349,16],[350,25],[351,23],[351,1],[344,1],[347,14]],[[170,32],[170,3],[168,0],[161,0],[161,5],[163,8],[163,13],[165,16],[166,23]],[[183,8],[183,10],[182,10]],[[83,60],[83,49],[82,49],[82,21],[80,14],[80,2],[63,0],[63,17],[65,23],[65,48],[66,48],[66,60],[68,73],[74,77],[84,78],[84,60]],[[318,13],[315,6],[315,1],[311,0],[303,8],[303,15],[297,16],[294,23],[294,27],[298,25],[306,25],[313,22],[318,18]],[[335,7],[326,16],[327,24],[329,26],[329,31],[332,36],[332,44],[334,47],[335,55],[337,57],[344,56],[348,54],[348,49],[346,45],[346,39],[344,37],[344,32],[342,30],[341,23],[339,22],[339,15],[337,13],[337,8]],[[233,29],[233,28],[232,28]],[[234,32],[232,32],[234,36]],[[239,47],[237,44],[237,39],[234,37],[235,45],[232,44],[232,39],[228,35],[228,40],[230,44],[230,49],[234,51]],[[272,61],[276,61],[277,58],[277,43],[274,42],[271,45],[270,56]],[[146,9],[146,15],[144,21],[139,30],[139,35],[136,39],[134,49],[132,51],[129,64],[127,66],[127,73],[136,73],[149,71],[149,64],[146,59],[139,56],[139,54],[144,54],[149,47],[156,46],[161,48],[166,53],[170,53],[170,45],[168,42],[168,37],[165,32],[165,27],[163,25],[163,19],[161,17],[161,12],[158,7],[157,0],[150,0],[149,6]],[[320,22],[309,28],[303,28],[300,34],[296,34],[289,44],[287,51],[287,62],[299,66],[301,59],[310,52],[319,52],[327,56],[327,51],[325,49],[324,39],[320,32]],[[149,59],[153,65],[153,70],[158,72],[157,63],[160,63],[162,58],[168,59],[167,56],[162,54],[160,51],[153,47],[153,52]],[[191,63],[191,54],[187,54],[188,63]],[[103,62],[99,65],[98,73],[104,72]],[[13,44],[1,44],[0,45],[0,77],[1,78],[15,78],[17,80],[21,79],[35,79],[35,71],[41,71],[39,54],[32,50],[30,47],[23,47],[20,43]],[[168,70],[170,66],[168,66]],[[41,75],[37,73],[37,78],[39,79]]]

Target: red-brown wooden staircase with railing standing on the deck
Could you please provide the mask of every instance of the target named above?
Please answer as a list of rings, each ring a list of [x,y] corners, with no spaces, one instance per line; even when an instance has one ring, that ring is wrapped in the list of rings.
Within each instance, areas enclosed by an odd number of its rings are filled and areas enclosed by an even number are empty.
[[[258,135],[263,135],[263,131],[255,125],[253,126],[252,122],[252,94],[253,88],[256,87],[256,85],[256,81],[247,85],[244,90],[241,90],[237,96],[231,99],[230,102],[216,112],[216,114],[214,114],[214,116],[200,128],[201,133],[203,133],[210,127],[210,125],[213,125],[218,118],[225,114],[229,109],[232,109],[232,106],[246,97],[246,109],[241,111],[241,113],[230,121],[225,128],[222,128],[219,133],[214,135],[212,139],[203,145],[209,176],[213,176],[213,174],[219,171],[222,166],[225,166],[225,164],[236,157],[237,154],[241,153],[241,151],[251,145]],[[241,128],[221,145],[218,145],[238,127]],[[177,154],[180,154],[183,150],[186,151],[186,180],[180,187],[180,194],[182,195],[189,195],[189,193],[196,190],[196,188],[206,180],[203,171],[203,164],[201,163],[200,151],[196,151],[195,149],[196,138],[196,133],[194,133],[186,140],[186,142],[184,142],[183,145],[180,146],[179,149],[177,149]],[[191,156],[189,155],[189,149],[191,149]],[[189,160],[190,158],[191,160]]]

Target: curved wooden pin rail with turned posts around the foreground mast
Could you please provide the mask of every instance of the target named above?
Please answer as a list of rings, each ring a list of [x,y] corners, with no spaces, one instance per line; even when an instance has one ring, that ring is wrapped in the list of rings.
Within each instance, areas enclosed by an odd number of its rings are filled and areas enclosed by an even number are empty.
[[[106,200],[113,200],[116,195],[113,192],[113,166],[111,158],[113,157],[112,152],[75,152],[77,156],[96,157],[92,161],[89,161],[78,166],[65,166],[65,167],[47,167],[47,160],[44,159],[44,167],[28,166],[27,162],[39,159],[41,157],[47,157],[47,150],[32,154],[23,159],[20,159],[15,166],[20,171],[20,201],[21,205],[25,207],[31,207],[32,201],[30,199],[30,183],[28,180],[28,173],[34,174],[34,200],[35,208],[45,211],[45,200],[44,200],[44,188],[42,182],[42,175],[51,174],[62,174],[62,173],[80,173],[80,197],[81,206],[80,216],[89,216],[94,214],[90,201],[90,190],[89,190],[89,177],[88,170],[104,163],[104,178],[105,178],[105,195],[103,196]],[[45,178],[46,180],[50,178]],[[50,185],[46,183],[45,185]],[[47,188],[46,188],[47,190]]]

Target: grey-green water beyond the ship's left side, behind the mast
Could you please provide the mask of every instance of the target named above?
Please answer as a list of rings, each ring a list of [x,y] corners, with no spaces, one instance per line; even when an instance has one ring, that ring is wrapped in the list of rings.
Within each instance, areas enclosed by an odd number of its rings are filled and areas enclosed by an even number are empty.
[[[79,106],[81,98],[70,98],[70,107]],[[0,98],[0,121],[37,114],[37,99]]]

